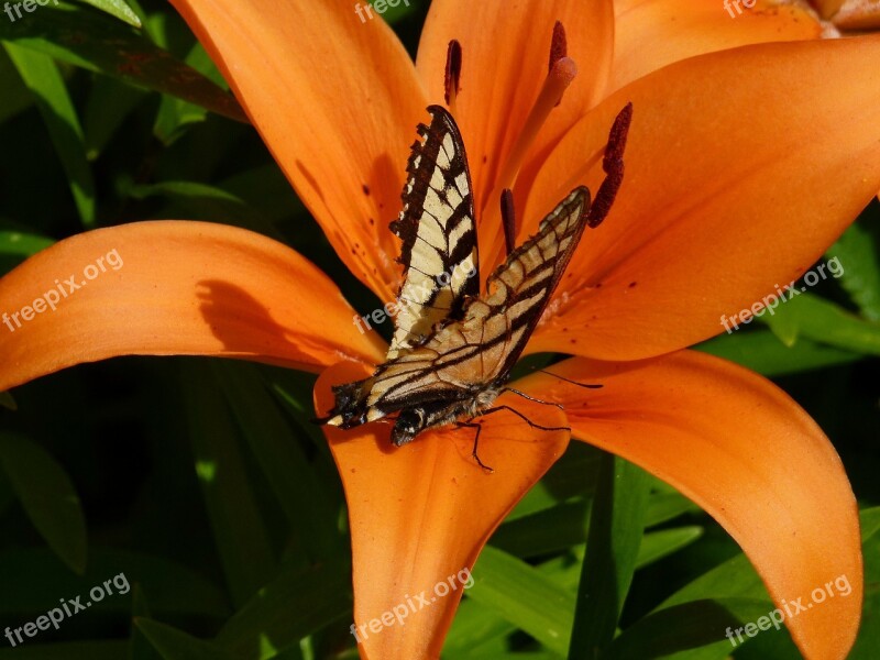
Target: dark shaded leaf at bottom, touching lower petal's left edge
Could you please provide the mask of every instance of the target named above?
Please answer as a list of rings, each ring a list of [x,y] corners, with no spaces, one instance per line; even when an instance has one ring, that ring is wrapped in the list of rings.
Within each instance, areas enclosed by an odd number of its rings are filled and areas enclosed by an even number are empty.
[[[343,619],[351,619],[351,608],[348,565],[286,566],[227,622],[216,641],[240,657],[268,658],[332,622],[348,632]]]

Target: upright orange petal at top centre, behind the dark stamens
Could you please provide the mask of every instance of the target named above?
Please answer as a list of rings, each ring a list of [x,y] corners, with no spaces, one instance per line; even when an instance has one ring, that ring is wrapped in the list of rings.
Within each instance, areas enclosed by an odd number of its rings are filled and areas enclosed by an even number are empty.
[[[431,3],[419,44],[418,72],[428,97],[439,102],[447,47],[453,38],[461,43],[457,120],[470,155],[477,212],[486,205],[498,205],[488,195],[547,78],[557,21],[565,28],[568,56],[578,64],[578,77],[535,140],[532,157],[546,153],[602,98],[614,47],[612,1],[530,0],[508,2],[503,9],[493,2]],[[481,248],[484,244],[488,250],[486,240]]]

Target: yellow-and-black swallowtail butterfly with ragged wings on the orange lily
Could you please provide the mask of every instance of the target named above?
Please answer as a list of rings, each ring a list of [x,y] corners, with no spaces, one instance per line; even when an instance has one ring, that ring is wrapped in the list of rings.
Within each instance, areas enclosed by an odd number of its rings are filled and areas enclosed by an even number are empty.
[[[537,234],[509,251],[484,294],[461,132],[441,106],[429,106],[428,112],[431,122],[419,124],[420,140],[411,146],[403,210],[391,223],[403,241],[404,280],[386,361],[369,378],[334,386],[334,406],[317,421],[351,429],[396,415],[391,432],[396,447],[435,427],[477,427],[473,458],[486,468],[476,455],[480,425],[471,420],[499,409],[526,419],[493,404],[584,230],[597,227],[610,209],[623,182],[632,109],[627,105],[614,121],[603,160],[606,177],[595,201],[591,205],[586,187],[574,188],[543,218]],[[509,190],[505,195],[503,224],[512,245],[513,202]]]

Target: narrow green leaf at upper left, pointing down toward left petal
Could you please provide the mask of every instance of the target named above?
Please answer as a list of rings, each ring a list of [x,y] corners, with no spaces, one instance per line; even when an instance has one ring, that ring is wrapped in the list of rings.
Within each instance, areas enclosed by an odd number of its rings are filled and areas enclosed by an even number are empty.
[[[84,227],[91,229],[96,222],[95,180],[86,157],[82,129],[64,78],[51,57],[9,43],[4,47],[21,79],[34,95],[36,107],[67,173],[79,217]]]

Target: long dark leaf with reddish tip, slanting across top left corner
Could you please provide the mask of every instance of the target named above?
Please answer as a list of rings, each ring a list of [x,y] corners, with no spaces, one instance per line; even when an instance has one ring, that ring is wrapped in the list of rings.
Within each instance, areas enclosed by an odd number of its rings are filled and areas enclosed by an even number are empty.
[[[90,9],[61,2],[41,9],[38,21],[0,21],[0,40],[248,123],[232,95],[132,28]]]

